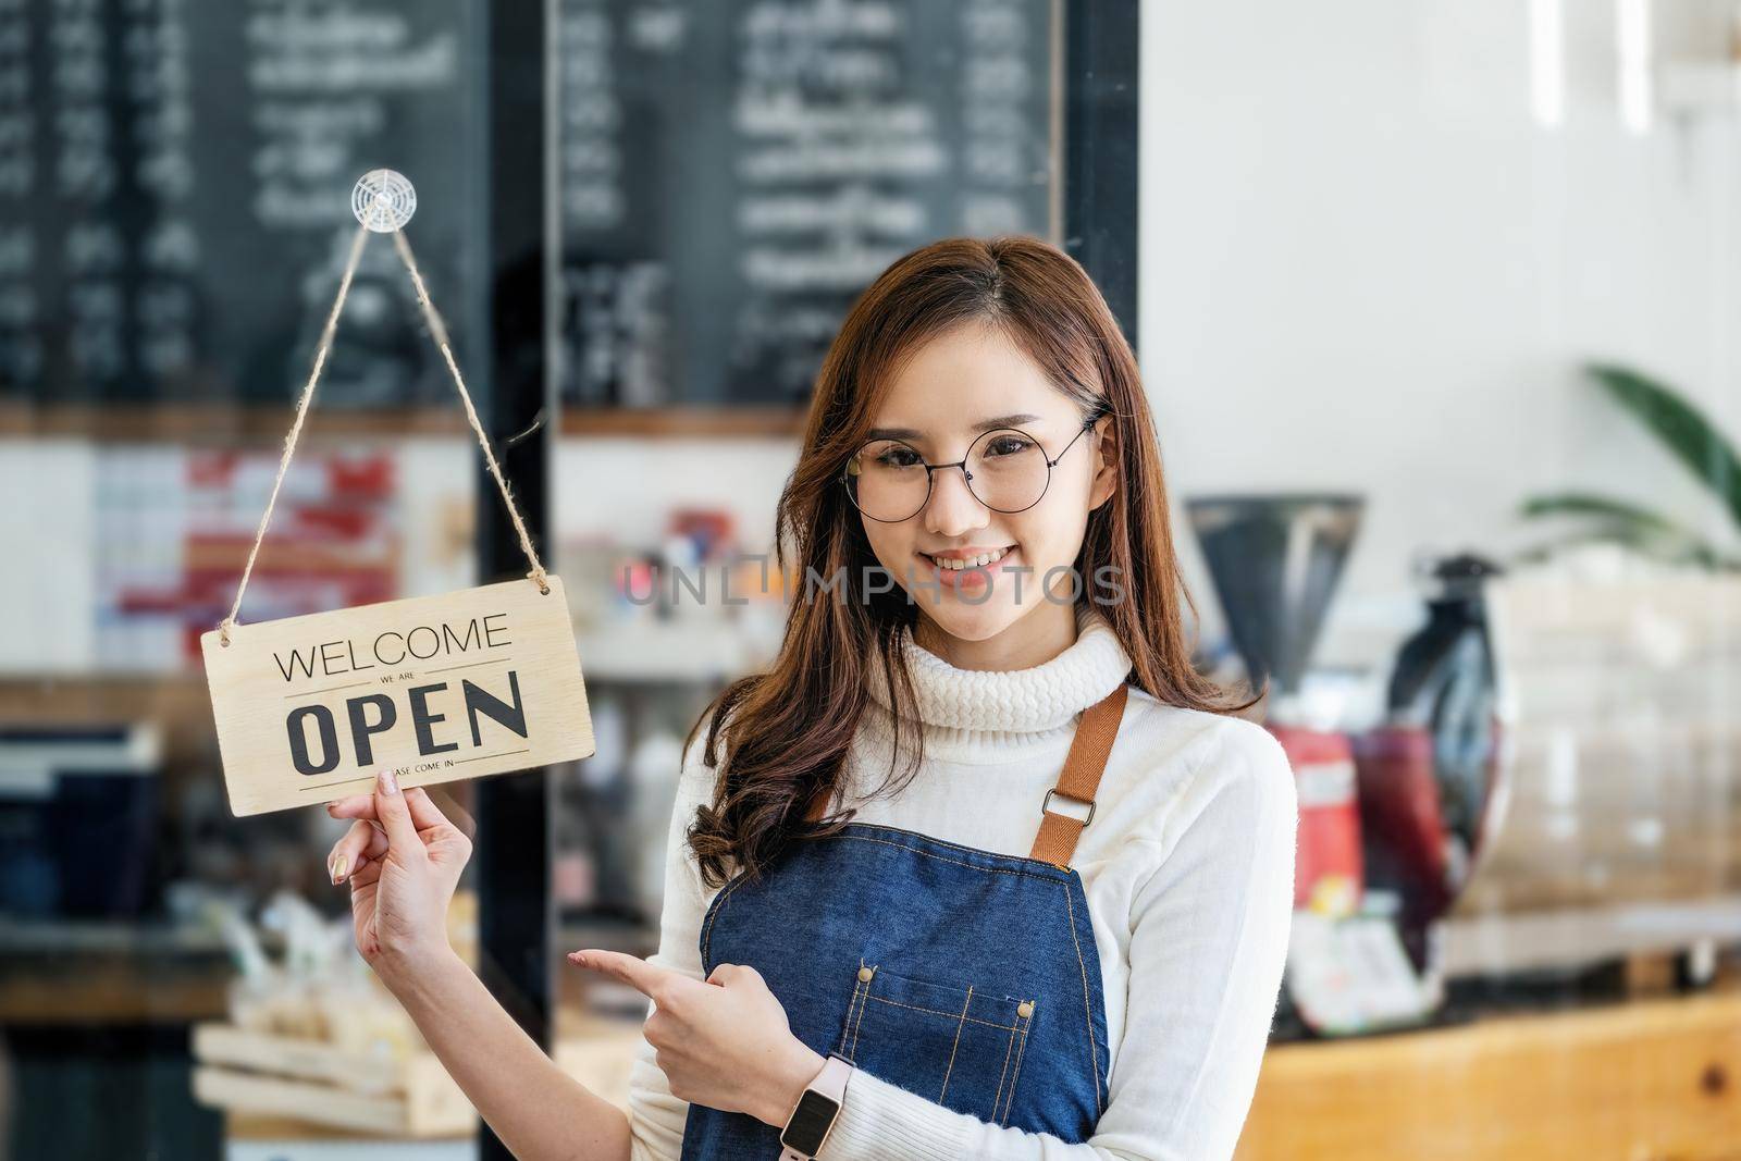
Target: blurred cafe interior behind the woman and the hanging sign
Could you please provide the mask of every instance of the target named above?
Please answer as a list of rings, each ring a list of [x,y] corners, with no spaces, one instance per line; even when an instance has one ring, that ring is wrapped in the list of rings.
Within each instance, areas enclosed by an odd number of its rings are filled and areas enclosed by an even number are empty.
[[[625,1100],[644,999],[559,957],[656,945],[820,352],[1024,232],[1299,780],[1240,1158],[1734,1156],[1738,111],[1718,0],[0,0],[0,1156],[505,1156],[198,661],[378,165],[571,601],[595,754],[461,783],[451,931],[575,1076]],[[479,465],[371,247],[242,620],[519,576]]]

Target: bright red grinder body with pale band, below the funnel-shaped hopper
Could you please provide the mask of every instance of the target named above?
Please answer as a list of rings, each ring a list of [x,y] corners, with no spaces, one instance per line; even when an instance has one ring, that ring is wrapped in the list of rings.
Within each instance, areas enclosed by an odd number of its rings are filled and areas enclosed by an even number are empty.
[[[1299,848],[1294,907],[1323,916],[1360,910],[1365,869],[1360,853],[1360,797],[1348,735],[1304,726],[1266,726],[1294,766],[1299,794]]]

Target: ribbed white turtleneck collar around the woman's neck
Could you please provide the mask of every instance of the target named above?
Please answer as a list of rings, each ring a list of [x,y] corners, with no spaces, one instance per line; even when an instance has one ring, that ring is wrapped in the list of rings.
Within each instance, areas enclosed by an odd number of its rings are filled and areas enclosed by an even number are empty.
[[[916,644],[905,627],[900,648],[924,724],[924,752],[954,761],[1003,761],[1013,748],[1069,742],[1078,715],[1123,684],[1132,665],[1112,625],[1085,602],[1076,606],[1076,641],[1031,668],[956,668]],[[865,724],[886,742],[893,710],[876,654],[869,682],[874,705],[865,710]]]

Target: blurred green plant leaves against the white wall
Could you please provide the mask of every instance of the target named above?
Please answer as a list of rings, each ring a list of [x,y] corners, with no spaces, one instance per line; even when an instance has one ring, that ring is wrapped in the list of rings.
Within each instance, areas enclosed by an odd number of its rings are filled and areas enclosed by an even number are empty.
[[[1741,456],[1717,425],[1678,392],[1631,367],[1595,362],[1586,364],[1584,372],[1710,489],[1729,524],[1741,531]],[[1576,517],[1581,526],[1523,550],[1516,560],[1541,560],[1574,545],[1610,541],[1659,560],[1741,571],[1741,559],[1717,548],[1696,529],[1628,500],[1579,491],[1548,493],[1527,498],[1518,515]]]

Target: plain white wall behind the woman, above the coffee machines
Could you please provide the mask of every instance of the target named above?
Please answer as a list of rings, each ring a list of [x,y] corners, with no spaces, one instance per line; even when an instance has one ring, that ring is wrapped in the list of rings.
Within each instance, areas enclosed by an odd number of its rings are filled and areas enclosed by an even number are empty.
[[[1725,49],[1722,7],[1656,0],[1659,77],[1664,57]],[[1368,496],[1323,661],[1386,663],[1419,616],[1412,554],[1532,543],[1513,512],[1534,491],[1614,491],[1725,533],[1576,367],[1637,362],[1741,432],[1741,136],[1661,110],[1649,134],[1621,127],[1609,0],[1565,0],[1565,120],[1539,127],[1527,9],[1142,10],[1139,355],[1175,503]]]

